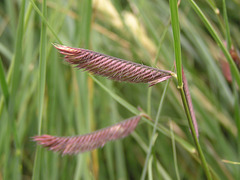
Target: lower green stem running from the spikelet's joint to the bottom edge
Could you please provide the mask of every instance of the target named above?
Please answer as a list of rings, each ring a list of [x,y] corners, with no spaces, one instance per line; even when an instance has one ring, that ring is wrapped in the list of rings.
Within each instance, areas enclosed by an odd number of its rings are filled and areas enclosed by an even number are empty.
[[[196,134],[194,126],[193,126],[193,121],[192,121],[192,118],[191,118],[190,110],[189,110],[189,107],[188,107],[188,103],[187,103],[187,99],[186,99],[186,95],[184,93],[183,87],[179,87],[179,91],[181,93],[183,106],[184,106],[184,109],[185,109],[185,112],[186,112],[186,115],[187,115],[187,119],[188,119],[188,124],[189,124],[189,127],[191,129],[193,140],[194,140],[194,143],[196,145],[198,154],[200,156],[203,169],[205,171],[207,179],[210,180],[210,179],[212,179],[212,177],[211,177],[211,174],[210,174],[210,171],[209,171],[206,159],[205,159],[204,154],[202,152],[202,148],[201,148],[201,146],[199,144],[199,141],[198,141],[198,138],[197,138],[197,134]]]

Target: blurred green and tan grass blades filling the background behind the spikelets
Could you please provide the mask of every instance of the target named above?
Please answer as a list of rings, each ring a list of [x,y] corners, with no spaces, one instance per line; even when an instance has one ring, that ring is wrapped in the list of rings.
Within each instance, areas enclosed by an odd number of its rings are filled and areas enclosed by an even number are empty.
[[[181,1],[182,60],[199,124],[199,141],[214,179],[240,178],[239,88],[220,68],[224,59],[206,26]],[[0,179],[204,179],[176,81],[148,88],[91,76],[63,63],[51,43],[88,48],[171,70],[174,44],[168,1],[6,0],[0,6]],[[223,2],[198,2],[222,41]],[[226,2],[232,43],[240,47],[237,0]],[[4,81],[6,80],[6,84]],[[135,114],[155,120],[153,149],[145,162],[153,124],[141,121],[129,137],[104,148],[64,156],[37,148],[37,134],[74,136]],[[145,169],[145,170],[144,170]]]

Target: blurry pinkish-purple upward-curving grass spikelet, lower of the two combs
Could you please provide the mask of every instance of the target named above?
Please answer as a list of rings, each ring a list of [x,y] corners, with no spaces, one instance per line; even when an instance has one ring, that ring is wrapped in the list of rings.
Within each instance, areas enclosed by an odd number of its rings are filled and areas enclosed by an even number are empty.
[[[137,126],[141,116],[134,116],[113,126],[100,129],[90,134],[57,137],[41,135],[33,137],[39,145],[49,150],[65,154],[76,154],[103,147],[108,141],[117,140],[128,136]]]

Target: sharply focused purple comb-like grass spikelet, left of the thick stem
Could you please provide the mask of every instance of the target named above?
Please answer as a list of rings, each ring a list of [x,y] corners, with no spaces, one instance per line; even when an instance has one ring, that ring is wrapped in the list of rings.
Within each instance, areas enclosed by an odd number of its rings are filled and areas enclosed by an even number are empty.
[[[142,64],[107,56],[94,51],[54,44],[65,60],[93,74],[116,81],[130,83],[149,83],[153,86],[172,77],[171,71],[164,71]]]

